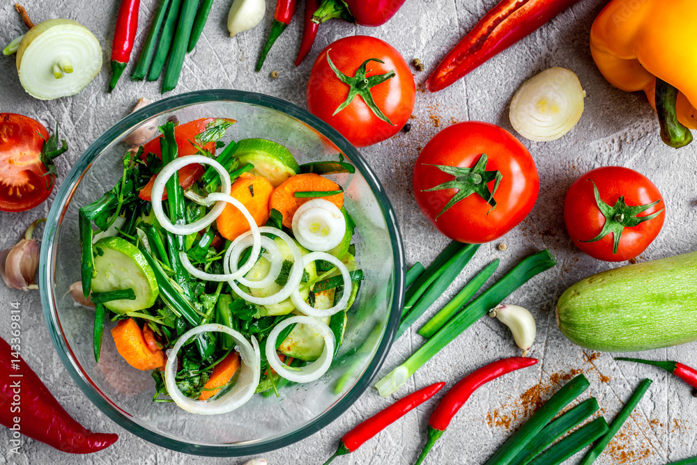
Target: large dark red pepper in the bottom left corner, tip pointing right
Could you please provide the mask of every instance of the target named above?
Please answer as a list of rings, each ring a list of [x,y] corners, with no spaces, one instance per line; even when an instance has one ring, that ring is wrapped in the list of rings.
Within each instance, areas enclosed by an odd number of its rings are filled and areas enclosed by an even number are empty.
[[[93,433],[68,415],[18,351],[0,338],[0,423],[17,432],[11,446],[19,448],[19,433],[72,454],[97,452],[116,442],[118,435]]]

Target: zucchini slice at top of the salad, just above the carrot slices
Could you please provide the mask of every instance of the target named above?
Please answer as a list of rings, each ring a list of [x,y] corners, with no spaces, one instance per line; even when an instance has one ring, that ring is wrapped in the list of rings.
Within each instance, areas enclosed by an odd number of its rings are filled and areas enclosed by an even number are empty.
[[[235,156],[240,166],[253,164],[252,174],[263,176],[273,187],[300,173],[300,165],[290,150],[266,139],[242,139]]]

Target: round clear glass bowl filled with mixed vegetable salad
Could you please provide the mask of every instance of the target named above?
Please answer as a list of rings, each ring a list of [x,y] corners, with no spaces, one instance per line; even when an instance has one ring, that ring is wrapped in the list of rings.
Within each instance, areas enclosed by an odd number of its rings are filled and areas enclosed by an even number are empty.
[[[273,97],[207,90],[132,113],[68,173],[45,231],[39,285],[68,373],[173,450],[251,455],[318,432],[371,385],[399,325],[383,187]]]

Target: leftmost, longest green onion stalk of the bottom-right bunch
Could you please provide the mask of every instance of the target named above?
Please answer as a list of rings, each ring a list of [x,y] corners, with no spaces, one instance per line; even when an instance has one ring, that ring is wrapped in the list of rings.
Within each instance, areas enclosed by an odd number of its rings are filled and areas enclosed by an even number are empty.
[[[589,387],[590,383],[583,375],[579,375],[569,381],[559,391],[554,393],[554,395],[530,417],[530,420],[526,421],[518,431],[514,432],[507,441],[503,443],[503,446],[496,451],[496,454],[487,460],[487,463],[484,465],[510,464],[557,413],[576,399],[576,397],[579,397],[579,395]]]

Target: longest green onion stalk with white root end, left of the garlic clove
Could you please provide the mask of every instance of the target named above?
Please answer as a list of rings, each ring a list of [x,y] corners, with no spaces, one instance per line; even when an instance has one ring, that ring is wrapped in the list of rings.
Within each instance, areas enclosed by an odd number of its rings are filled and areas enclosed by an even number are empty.
[[[404,386],[407,379],[416,370],[421,368],[431,357],[438,354],[443,347],[450,344],[463,331],[472,326],[474,322],[487,315],[491,308],[500,304],[503,299],[510,296],[512,292],[528,282],[533,276],[550,269],[554,265],[556,265],[556,260],[546,249],[520,262],[503,278],[483,292],[480,297],[477,297],[471,304],[463,308],[460,313],[447,322],[443,328],[424,345],[419,347],[404,363],[378,381],[375,387],[380,391],[380,395],[387,397],[395,393],[401,386]]]

